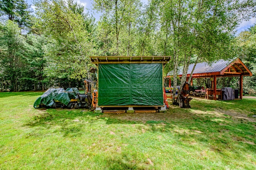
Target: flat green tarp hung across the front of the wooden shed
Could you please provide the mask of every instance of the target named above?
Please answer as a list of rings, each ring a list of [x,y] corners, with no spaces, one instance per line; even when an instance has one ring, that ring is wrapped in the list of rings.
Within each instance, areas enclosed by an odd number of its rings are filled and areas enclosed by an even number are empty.
[[[128,105],[164,105],[162,63],[98,65],[98,106]]]

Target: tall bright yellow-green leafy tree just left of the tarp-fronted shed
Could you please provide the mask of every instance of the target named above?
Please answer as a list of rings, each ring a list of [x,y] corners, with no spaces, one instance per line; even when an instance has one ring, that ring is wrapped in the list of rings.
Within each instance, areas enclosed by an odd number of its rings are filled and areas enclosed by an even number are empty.
[[[87,73],[89,56],[94,55],[92,30],[87,30],[92,19],[87,20],[83,7],[73,0],[37,1],[36,6],[37,26],[51,38],[45,51],[46,75],[81,79]]]

